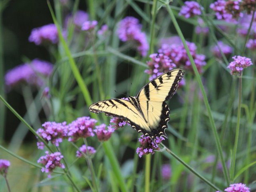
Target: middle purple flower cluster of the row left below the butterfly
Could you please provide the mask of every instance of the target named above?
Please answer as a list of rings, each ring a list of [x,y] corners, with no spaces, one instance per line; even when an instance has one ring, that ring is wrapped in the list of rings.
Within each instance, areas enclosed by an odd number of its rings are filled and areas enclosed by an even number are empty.
[[[68,141],[94,136],[93,127],[97,121],[90,117],[79,117],[68,125]]]

